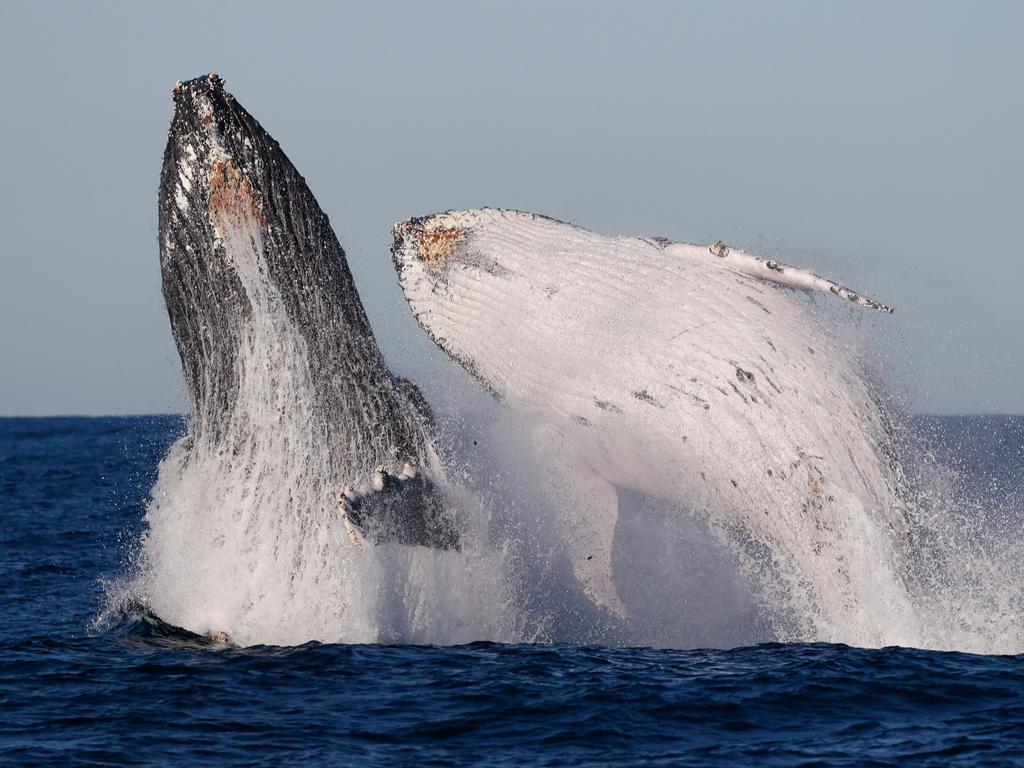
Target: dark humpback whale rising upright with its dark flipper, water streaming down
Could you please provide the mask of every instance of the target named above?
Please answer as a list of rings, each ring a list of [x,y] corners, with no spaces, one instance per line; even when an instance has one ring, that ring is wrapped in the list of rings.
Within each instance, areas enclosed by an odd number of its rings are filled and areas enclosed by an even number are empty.
[[[338,505],[359,549],[458,547],[429,410],[388,370],[306,182],[216,75],[173,98],[159,237],[191,404],[185,463],[230,475],[209,493],[239,515]]]

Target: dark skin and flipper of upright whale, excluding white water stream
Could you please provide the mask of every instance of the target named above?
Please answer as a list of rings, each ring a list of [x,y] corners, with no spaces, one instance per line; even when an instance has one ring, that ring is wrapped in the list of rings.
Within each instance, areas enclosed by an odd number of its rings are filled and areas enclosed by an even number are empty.
[[[311,449],[296,450],[311,450],[311,465],[329,467],[326,485],[336,492],[366,483],[377,469],[391,476],[384,493],[349,510],[372,539],[457,547],[440,494],[422,471],[436,463],[425,400],[388,370],[345,253],[305,180],[216,75],[179,83],[173,97],[158,202],[160,265],[191,406],[190,450],[239,454],[261,437],[236,418],[241,357],[252,353],[247,328],[266,310],[228,258],[233,238],[261,253],[260,280],[285,315],[275,322],[305,350],[290,365],[302,369],[311,396],[281,415],[315,436]],[[396,483],[407,462],[421,471]]]

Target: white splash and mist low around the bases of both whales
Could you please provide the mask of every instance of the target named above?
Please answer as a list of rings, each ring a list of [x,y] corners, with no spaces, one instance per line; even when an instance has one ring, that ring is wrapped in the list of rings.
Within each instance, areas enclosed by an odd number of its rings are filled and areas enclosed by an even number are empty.
[[[1020,500],[949,466],[984,435],[950,435],[920,420],[897,426],[908,523],[902,545],[885,553],[888,562],[872,562],[863,542],[844,538],[831,554],[848,567],[895,574],[887,594],[815,582],[827,558],[786,572],[771,551],[723,534],[713,517],[621,490],[613,565],[629,610],[623,622],[594,607],[572,578],[555,532],[558,505],[543,492],[545,463],[557,457],[530,454],[529,420],[465,382],[435,387],[432,399],[449,496],[465,526],[461,551],[392,544],[359,553],[329,489],[316,496],[303,485],[313,478],[308,468],[296,471],[296,457],[315,456],[315,447],[300,435],[283,441],[268,430],[245,461],[195,453],[188,461],[186,435],[161,464],[133,575],[111,589],[108,611],[142,606],[239,645],[688,648],[780,640],[1024,649]],[[1013,469],[1000,471],[1007,478]],[[777,529],[782,549],[785,537],[807,535]],[[822,609],[833,602],[847,609]]]

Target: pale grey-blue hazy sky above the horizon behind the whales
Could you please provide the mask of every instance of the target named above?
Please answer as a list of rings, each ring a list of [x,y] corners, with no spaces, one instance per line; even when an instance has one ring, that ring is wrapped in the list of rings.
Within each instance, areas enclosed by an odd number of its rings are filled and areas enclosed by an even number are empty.
[[[328,212],[398,370],[391,223],[538,211],[724,240],[844,309],[916,411],[1024,411],[1024,3],[0,2],[0,414],[184,408],[171,88],[211,70]]]

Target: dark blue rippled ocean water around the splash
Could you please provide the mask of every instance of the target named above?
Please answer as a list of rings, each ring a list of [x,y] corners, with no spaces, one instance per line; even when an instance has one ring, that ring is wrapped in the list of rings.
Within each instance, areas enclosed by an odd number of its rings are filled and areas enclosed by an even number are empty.
[[[0,762],[1024,764],[1024,655],[240,649],[144,611],[97,624],[104,580],[130,561],[157,464],[183,426],[0,420]],[[919,428],[976,495],[1024,498],[1024,419]]]

